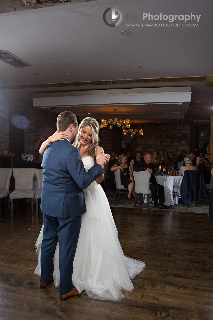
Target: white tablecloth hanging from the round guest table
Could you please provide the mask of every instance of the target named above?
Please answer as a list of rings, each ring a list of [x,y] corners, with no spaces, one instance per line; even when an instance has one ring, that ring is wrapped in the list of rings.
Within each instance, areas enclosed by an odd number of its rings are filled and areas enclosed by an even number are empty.
[[[173,188],[174,187],[180,187],[181,182],[183,179],[183,176],[169,176],[169,175],[163,175],[163,176],[155,176],[157,183],[161,184],[164,187],[164,197],[166,205],[174,205],[178,203],[178,197],[174,196]]]

